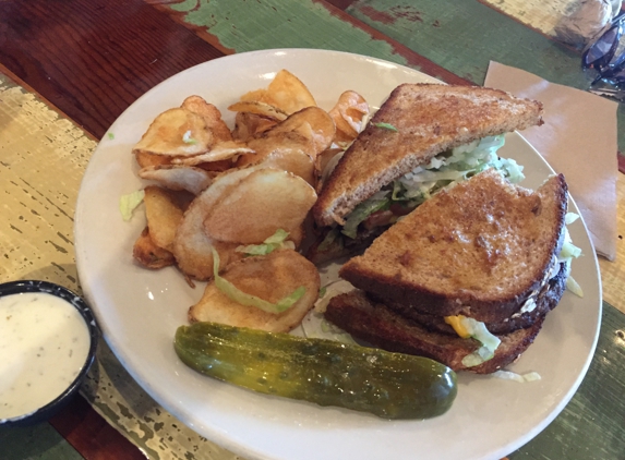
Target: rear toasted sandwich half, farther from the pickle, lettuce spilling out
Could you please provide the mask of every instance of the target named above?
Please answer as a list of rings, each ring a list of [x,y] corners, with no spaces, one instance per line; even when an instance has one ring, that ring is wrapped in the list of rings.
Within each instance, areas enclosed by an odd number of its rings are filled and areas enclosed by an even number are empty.
[[[522,179],[496,150],[504,133],[542,124],[542,105],[498,89],[440,84],[395,88],[323,184],[313,216],[323,262],[366,246],[444,186],[488,167]]]

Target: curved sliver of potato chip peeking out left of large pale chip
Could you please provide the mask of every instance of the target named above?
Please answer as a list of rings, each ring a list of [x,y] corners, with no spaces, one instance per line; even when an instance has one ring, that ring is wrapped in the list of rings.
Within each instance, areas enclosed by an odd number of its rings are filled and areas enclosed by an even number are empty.
[[[178,267],[187,276],[199,280],[213,277],[213,247],[221,257],[220,268],[241,257],[241,254],[235,251],[239,245],[238,243],[220,243],[206,234],[204,219],[224,194],[228,194],[231,187],[235,187],[244,177],[254,171],[255,168],[252,167],[218,175],[211,186],[189,205],[176,230],[172,251]]]

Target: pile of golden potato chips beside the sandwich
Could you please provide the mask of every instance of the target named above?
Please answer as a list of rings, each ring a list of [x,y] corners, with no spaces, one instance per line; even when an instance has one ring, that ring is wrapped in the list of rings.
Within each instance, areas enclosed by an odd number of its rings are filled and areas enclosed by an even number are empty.
[[[324,170],[361,131],[369,105],[347,90],[325,111],[281,70],[267,88],[244,94],[228,110],[237,112],[233,130],[214,105],[190,96],[160,113],[134,146],[139,175],[149,185],[147,226],[133,255],[152,269],[176,265],[190,283],[211,280],[218,258],[224,279],[268,302],[303,286],[307,293],[292,307],[272,313],[238,304],[209,282],[190,310],[191,320],[288,331],[312,307],[320,285],[314,265],[297,251],[304,221]],[[295,249],[254,256],[242,250],[278,231]]]

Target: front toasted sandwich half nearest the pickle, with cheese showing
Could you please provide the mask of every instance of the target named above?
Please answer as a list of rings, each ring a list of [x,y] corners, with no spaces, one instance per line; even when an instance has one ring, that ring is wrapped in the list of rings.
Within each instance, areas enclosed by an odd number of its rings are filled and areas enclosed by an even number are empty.
[[[562,174],[536,192],[490,168],[443,190],[378,237],[339,276],[330,323],[376,347],[491,373],[516,360],[570,273]],[[573,246],[574,247],[574,246]]]

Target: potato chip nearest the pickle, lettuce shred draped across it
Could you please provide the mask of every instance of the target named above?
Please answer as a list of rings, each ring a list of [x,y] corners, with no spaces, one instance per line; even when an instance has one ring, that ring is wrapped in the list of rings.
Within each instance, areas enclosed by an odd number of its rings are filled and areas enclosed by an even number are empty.
[[[288,332],[299,325],[318,298],[321,286],[316,267],[292,250],[277,250],[227,266],[221,275],[241,291],[276,303],[300,287],[305,293],[281,313],[267,313],[241,305],[228,298],[212,281],[200,302],[189,310],[191,322],[215,322],[272,332]]]

